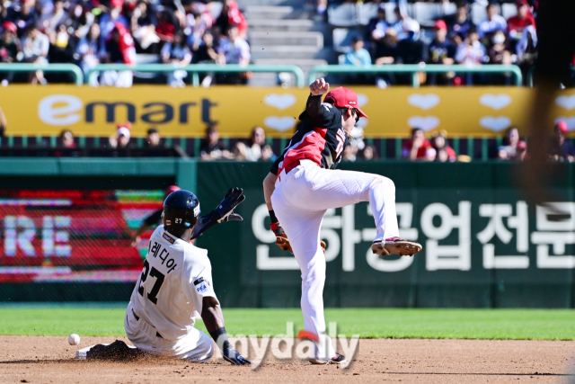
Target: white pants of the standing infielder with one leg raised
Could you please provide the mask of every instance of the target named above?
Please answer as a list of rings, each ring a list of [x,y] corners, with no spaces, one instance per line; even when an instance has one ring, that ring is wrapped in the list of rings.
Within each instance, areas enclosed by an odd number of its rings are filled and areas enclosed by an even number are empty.
[[[302,272],[302,311],[305,330],[319,336],[310,356],[328,360],[335,351],[325,331],[323,285],[325,257],[320,246],[320,228],[326,210],[359,201],[369,201],[376,220],[376,238],[398,237],[395,213],[395,185],[379,174],[323,169],[302,160],[288,174],[282,171],[271,195],[279,223],[288,235]]]

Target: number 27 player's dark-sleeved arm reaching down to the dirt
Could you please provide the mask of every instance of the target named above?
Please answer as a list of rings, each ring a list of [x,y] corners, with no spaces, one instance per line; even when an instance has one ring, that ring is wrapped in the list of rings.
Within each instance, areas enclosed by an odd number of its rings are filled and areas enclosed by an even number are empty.
[[[234,365],[252,363],[232,348],[227,337],[226,326],[224,326],[224,314],[222,314],[222,308],[216,298],[205,296],[202,299],[201,318],[204,320],[209,335],[212,336],[217,347],[222,351],[222,356],[226,362],[231,362]]]

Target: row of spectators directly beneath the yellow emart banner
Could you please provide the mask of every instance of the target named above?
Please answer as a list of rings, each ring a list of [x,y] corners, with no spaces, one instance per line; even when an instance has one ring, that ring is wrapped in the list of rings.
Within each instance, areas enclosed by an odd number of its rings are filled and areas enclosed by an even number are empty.
[[[18,149],[6,147],[5,126],[5,116],[0,109],[0,149],[7,150],[7,156],[30,156],[30,154],[11,154]],[[567,122],[561,120],[556,121],[553,126],[553,132],[550,130],[549,141],[543,144],[549,154],[548,160],[550,162],[575,162],[575,146],[573,146],[573,140],[567,138],[569,132],[570,129]],[[380,158],[377,147],[373,145],[373,140],[366,139],[363,135],[363,129],[361,128],[356,127],[351,131],[350,136],[352,139],[350,139],[349,145],[342,153],[341,160],[343,162],[376,160]],[[40,147],[38,145],[36,147],[28,147],[28,150],[31,151],[30,153],[35,154],[32,156],[195,156],[203,161],[274,161],[283,149],[277,147],[278,142],[276,142],[276,149],[274,150],[274,147],[272,147],[273,140],[266,139],[265,130],[260,126],[255,126],[247,139],[223,139],[220,137],[217,124],[209,124],[206,127],[204,137],[199,139],[199,146],[195,150],[190,150],[190,147],[181,148],[178,144],[174,144],[172,139],[168,138],[168,140],[162,138],[160,131],[156,128],[147,129],[145,138],[133,138],[131,135],[131,124],[123,122],[118,124],[116,133],[113,136],[107,138],[104,143],[98,141],[98,144],[92,144],[90,148],[86,148],[85,142],[82,148],[78,146],[78,139],[75,138],[74,133],[70,129],[63,129],[57,138],[56,145],[49,146],[46,143]],[[471,145],[472,147],[466,147],[463,151],[464,154],[459,154],[452,147],[454,139],[448,138],[446,130],[440,129],[431,134],[426,134],[423,129],[413,128],[411,129],[410,137],[402,140],[400,152],[394,154],[393,157],[400,157],[406,161],[469,162],[472,160],[473,155],[473,157],[477,157],[478,154],[475,152],[476,148],[473,148],[473,140],[464,141],[466,146]],[[500,143],[500,145],[493,150],[488,149],[490,153],[488,158],[500,161],[525,161],[529,159],[526,138],[521,138],[517,127],[510,127],[507,129],[504,138],[499,138],[495,141]],[[462,140],[458,142],[461,143]],[[44,152],[39,155],[37,152],[42,148],[44,148]],[[457,148],[459,147],[457,146]],[[89,150],[86,152],[86,149]]]

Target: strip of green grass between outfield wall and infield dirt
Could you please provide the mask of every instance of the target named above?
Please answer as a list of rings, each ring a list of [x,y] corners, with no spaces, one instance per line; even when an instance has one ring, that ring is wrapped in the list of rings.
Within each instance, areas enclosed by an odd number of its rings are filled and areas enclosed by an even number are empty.
[[[125,306],[0,307],[0,335],[124,335]],[[232,335],[279,335],[304,327],[299,309],[225,309]],[[361,337],[575,340],[571,309],[329,308],[338,333]],[[205,331],[198,321],[199,329]]]

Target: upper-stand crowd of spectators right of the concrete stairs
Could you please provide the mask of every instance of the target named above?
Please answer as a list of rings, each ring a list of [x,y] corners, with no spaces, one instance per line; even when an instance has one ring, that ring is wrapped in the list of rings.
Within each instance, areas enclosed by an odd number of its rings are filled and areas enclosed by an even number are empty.
[[[370,67],[385,64],[517,64],[527,71],[535,61],[537,32],[534,7],[527,0],[517,0],[517,15],[505,20],[500,5],[490,2],[486,5],[486,18],[475,25],[466,1],[456,3],[456,13],[435,21],[433,37],[426,39],[420,23],[403,11],[402,6],[394,10],[396,22],[388,23],[385,4],[378,8],[377,15],[367,24],[364,36],[356,37],[343,64]],[[482,76],[464,76],[456,73],[431,75],[429,79],[421,74],[420,81],[436,84],[477,84]],[[510,75],[503,79],[510,81]],[[380,86],[394,83],[390,76],[380,77]]]

